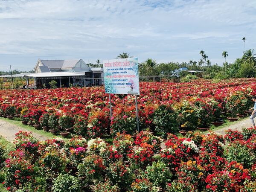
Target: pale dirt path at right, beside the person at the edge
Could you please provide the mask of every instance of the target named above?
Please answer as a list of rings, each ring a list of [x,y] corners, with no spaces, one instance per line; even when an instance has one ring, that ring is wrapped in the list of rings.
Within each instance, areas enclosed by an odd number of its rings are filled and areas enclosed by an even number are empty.
[[[252,127],[252,123],[249,119],[249,117],[246,117],[244,120],[241,120],[237,122],[234,125],[227,125],[221,129],[218,129],[216,131],[213,131],[217,134],[225,135],[225,130],[231,129],[231,130],[237,130],[237,131],[242,131],[242,128],[249,128]]]

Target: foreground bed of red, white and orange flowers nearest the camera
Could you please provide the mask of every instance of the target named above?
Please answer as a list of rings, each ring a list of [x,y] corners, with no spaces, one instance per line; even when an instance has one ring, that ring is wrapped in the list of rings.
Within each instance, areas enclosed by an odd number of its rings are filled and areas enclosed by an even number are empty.
[[[112,145],[83,137],[39,142],[20,131],[14,145],[7,158],[0,146],[3,184],[14,192],[250,192],[256,186],[256,128],[224,137],[168,134],[165,148],[147,131],[134,139],[118,133]]]

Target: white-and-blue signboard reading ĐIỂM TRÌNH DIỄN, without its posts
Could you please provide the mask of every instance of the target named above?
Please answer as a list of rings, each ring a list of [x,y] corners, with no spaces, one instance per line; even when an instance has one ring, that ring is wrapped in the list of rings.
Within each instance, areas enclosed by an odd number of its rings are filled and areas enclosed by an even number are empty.
[[[140,95],[138,58],[103,61],[105,93]]]

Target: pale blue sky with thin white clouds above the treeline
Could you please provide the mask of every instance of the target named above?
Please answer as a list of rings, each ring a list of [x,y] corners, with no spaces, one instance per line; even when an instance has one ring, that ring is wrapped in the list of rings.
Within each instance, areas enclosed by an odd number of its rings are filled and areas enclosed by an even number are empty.
[[[38,58],[116,58],[212,64],[256,49],[255,0],[0,0],[0,70],[31,70]],[[256,50],[255,50],[256,52]]]

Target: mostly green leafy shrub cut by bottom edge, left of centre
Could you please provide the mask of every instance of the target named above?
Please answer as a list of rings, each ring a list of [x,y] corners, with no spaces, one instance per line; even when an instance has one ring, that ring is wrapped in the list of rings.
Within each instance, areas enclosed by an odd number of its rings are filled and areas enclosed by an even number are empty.
[[[79,192],[81,184],[77,177],[69,174],[60,174],[53,181],[52,192]]]

